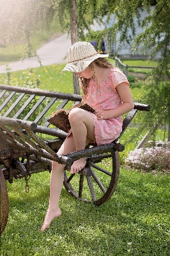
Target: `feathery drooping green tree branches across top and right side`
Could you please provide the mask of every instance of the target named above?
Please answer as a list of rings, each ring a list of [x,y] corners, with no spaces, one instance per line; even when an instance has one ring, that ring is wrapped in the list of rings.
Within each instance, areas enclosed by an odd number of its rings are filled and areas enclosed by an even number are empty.
[[[77,7],[76,7],[77,4]],[[151,12],[150,6],[155,8]],[[77,10],[77,18],[76,18]],[[141,18],[141,11],[146,10],[148,16]],[[132,31],[135,52],[139,44],[143,44],[141,52],[146,53],[151,49],[148,61],[161,53],[158,65],[146,77],[143,86],[143,99],[151,106],[150,113],[144,115],[141,129],[148,127],[150,132],[155,130],[155,124],[170,124],[170,86],[169,86],[169,63],[170,63],[170,2],[167,0],[105,0],[98,3],[97,0],[1,0],[1,20],[10,20],[9,39],[26,40],[26,51],[29,56],[35,55],[31,44],[31,33],[35,29],[49,29],[53,19],[58,17],[61,31],[67,31],[68,35],[75,36],[76,40],[84,40],[85,31],[91,35],[90,25],[98,17],[107,14],[107,20],[111,14],[116,15],[116,22],[111,28],[95,33],[99,42],[106,38],[109,47],[114,40],[121,45],[128,40],[128,31]],[[71,19],[69,19],[71,17]],[[137,17],[137,24],[134,22]],[[70,23],[71,28],[70,29]],[[72,27],[72,24],[74,26]],[[77,26],[77,27],[76,27]],[[139,35],[136,34],[136,26],[143,29]],[[77,33],[77,35],[76,35]],[[117,38],[118,33],[120,37]],[[29,51],[27,51],[29,49]],[[116,54],[116,52],[115,52]]]

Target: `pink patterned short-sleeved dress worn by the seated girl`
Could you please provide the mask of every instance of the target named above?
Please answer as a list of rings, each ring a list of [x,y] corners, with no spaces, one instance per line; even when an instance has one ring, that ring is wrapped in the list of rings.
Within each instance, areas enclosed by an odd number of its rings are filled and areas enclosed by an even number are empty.
[[[122,104],[120,95],[116,91],[116,86],[122,82],[129,85],[127,77],[119,68],[112,68],[104,81],[96,84],[91,78],[88,86],[87,103],[92,108],[101,108],[104,110],[114,109]],[[109,119],[97,119],[95,114],[93,120],[95,123],[95,137],[97,145],[104,145],[116,140],[122,131],[123,118],[118,116]]]

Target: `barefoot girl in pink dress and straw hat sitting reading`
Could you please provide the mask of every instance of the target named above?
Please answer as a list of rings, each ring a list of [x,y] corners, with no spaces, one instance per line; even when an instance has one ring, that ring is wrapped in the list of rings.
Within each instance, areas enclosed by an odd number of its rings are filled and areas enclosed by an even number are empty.
[[[95,112],[90,113],[81,108],[70,111],[71,131],[58,151],[60,155],[83,150],[90,141],[103,145],[116,140],[123,123],[121,115],[134,108],[127,77],[105,57],[108,55],[98,54],[88,42],[77,42],[68,49],[68,63],[63,71],[77,73],[83,92],[82,99]],[[70,172],[78,173],[85,165],[85,158],[78,159],[72,164]],[[61,215],[59,196],[63,186],[64,168],[64,164],[52,162],[49,209],[41,231]]]

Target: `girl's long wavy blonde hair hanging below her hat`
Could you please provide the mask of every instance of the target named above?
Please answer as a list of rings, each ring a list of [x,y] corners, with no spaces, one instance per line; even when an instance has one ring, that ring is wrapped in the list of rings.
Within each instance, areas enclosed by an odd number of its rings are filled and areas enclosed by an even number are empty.
[[[106,60],[106,58],[98,58],[97,60],[94,60],[93,62],[91,62],[91,64],[89,64],[89,67],[93,70],[93,79],[94,81],[98,84],[98,81],[97,81],[97,77],[96,77],[96,72],[95,72],[95,66],[93,65],[98,65],[98,67],[101,67],[101,68],[113,68],[114,66],[109,63],[109,61]],[[80,77],[79,78],[80,81],[81,81],[81,84],[82,84],[82,99],[83,100],[86,100],[86,97],[87,97],[87,90],[88,90],[88,85],[89,85],[89,80],[90,79],[86,79],[86,78],[83,78],[83,77]]]

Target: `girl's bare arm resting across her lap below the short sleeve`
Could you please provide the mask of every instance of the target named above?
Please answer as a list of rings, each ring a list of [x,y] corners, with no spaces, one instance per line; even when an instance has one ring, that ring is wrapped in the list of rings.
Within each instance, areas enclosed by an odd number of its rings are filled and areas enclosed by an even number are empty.
[[[134,100],[132,99],[132,94],[130,92],[128,84],[125,82],[120,83],[116,86],[116,90],[118,91],[121,101],[123,103],[120,106],[118,106],[118,108],[114,109],[96,109],[95,115],[99,119],[107,119],[121,116],[134,108]]]

